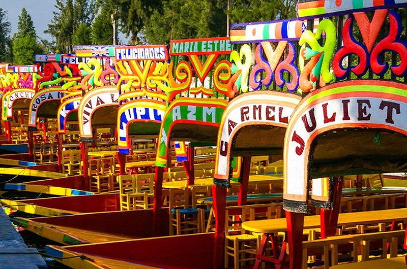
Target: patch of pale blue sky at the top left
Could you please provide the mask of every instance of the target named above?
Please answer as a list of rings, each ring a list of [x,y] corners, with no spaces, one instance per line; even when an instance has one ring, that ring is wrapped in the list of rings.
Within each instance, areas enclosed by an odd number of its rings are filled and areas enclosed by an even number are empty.
[[[37,36],[52,41],[52,37],[45,34],[44,30],[48,28],[48,23],[51,23],[54,3],[54,0],[0,0],[0,8],[7,11],[7,18],[11,23],[11,36],[17,32],[18,16],[21,9],[25,8],[33,20]]]

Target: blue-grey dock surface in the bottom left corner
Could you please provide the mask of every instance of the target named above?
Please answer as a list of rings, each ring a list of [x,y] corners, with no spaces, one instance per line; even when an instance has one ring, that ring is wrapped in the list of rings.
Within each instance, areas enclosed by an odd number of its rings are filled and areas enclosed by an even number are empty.
[[[37,249],[28,248],[9,217],[0,209],[0,264],[2,268],[47,268]]]

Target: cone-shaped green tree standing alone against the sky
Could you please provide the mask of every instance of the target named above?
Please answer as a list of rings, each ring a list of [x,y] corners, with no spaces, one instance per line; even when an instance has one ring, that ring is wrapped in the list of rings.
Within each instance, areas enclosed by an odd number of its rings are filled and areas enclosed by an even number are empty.
[[[30,14],[22,8],[21,15],[18,16],[18,32],[13,37],[13,63],[33,64],[34,55],[42,53],[42,47],[37,42],[35,27]]]

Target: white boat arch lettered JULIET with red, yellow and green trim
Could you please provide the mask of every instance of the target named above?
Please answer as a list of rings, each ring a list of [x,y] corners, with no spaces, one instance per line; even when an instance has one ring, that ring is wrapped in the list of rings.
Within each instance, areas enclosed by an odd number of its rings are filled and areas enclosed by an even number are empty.
[[[311,92],[294,111],[285,135],[284,209],[307,212],[311,177],[340,175],[344,171],[355,174],[357,169],[358,172],[363,169],[362,173],[402,171],[406,159],[405,154],[400,153],[401,139],[396,139],[395,134],[407,135],[406,113],[407,87],[398,82],[345,81]],[[333,132],[328,137],[330,131]],[[335,135],[340,131],[340,135]],[[345,140],[338,143],[341,138]],[[329,147],[328,139],[334,141],[332,145],[336,148]],[[319,151],[316,144],[321,147]],[[325,157],[320,157],[322,150]],[[325,159],[326,163],[331,158],[331,163],[325,164],[330,165],[327,169],[330,174],[324,175],[324,167],[318,171],[313,163],[316,171],[313,171],[314,176],[310,175],[311,153],[313,162],[319,160],[321,166],[324,165],[321,160]],[[341,156],[352,160],[341,163]],[[318,190],[323,184],[315,184],[314,205],[330,208],[327,193]],[[329,192],[329,188],[325,192]]]

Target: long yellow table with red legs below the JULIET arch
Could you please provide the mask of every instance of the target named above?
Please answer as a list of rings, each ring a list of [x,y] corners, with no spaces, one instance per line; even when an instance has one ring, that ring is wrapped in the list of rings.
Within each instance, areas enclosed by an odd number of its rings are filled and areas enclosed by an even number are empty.
[[[364,211],[355,213],[342,213],[339,214],[338,226],[384,223],[392,221],[406,222],[407,208],[386,209],[380,211]],[[313,229],[318,228],[320,226],[321,221],[319,215],[305,216],[304,229]],[[260,246],[258,248],[258,252],[256,255],[256,262],[254,265],[254,268],[258,268],[261,260],[263,259],[269,260],[268,257],[263,256],[266,242],[271,237],[273,237],[275,232],[287,231],[287,222],[285,218],[245,221],[242,223],[242,228],[251,232],[263,233],[263,237],[261,239]],[[274,246],[273,249],[277,248],[275,248]],[[405,264],[403,268],[405,268]]]

